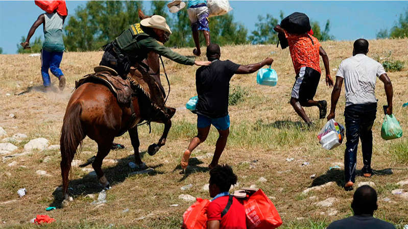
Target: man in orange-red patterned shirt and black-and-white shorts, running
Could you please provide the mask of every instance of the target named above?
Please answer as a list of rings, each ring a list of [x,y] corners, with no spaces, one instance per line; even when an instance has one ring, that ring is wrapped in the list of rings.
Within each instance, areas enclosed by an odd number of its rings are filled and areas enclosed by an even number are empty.
[[[296,82],[291,94],[292,107],[308,125],[311,124],[311,120],[303,107],[318,107],[319,118],[323,119],[327,113],[327,102],[326,100],[315,101],[313,97],[316,94],[321,74],[319,55],[322,56],[326,70],[326,85],[333,86],[329,58],[325,50],[321,47],[319,40],[310,34],[290,34],[279,25],[274,30],[285,34],[296,72]]]

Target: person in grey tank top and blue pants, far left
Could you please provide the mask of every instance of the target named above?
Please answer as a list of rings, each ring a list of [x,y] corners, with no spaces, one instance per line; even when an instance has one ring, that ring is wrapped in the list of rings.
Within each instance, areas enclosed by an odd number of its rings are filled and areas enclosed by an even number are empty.
[[[41,76],[45,91],[51,89],[49,69],[55,77],[58,78],[59,89],[63,90],[65,88],[65,75],[60,69],[62,54],[65,50],[64,41],[62,39],[62,27],[65,18],[66,15],[59,15],[57,10],[53,13],[40,14],[33,26],[31,26],[26,41],[21,43],[23,48],[29,48],[31,37],[34,35],[35,30],[40,24],[42,24],[44,30],[44,43],[42,44],[41,49]]]

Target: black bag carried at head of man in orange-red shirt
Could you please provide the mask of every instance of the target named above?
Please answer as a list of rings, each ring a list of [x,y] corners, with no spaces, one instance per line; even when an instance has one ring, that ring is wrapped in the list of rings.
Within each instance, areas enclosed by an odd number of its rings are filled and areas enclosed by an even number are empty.
[[[292,34],[304,34],[311,29],[309,17],[299,12],[283,18],[280,22],[280,27]]]

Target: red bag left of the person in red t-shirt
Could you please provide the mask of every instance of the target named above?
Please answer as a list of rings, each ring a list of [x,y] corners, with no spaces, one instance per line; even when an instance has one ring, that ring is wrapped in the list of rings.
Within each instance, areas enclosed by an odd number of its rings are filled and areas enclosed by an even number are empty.
[[[206,229],[207,209],[210,201],[208,199],[197,198],[183,214],[184,229]]]

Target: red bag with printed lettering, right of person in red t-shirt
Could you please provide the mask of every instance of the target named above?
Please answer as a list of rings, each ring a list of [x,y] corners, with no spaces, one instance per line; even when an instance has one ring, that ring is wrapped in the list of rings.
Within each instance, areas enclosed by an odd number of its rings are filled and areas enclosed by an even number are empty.
[[[272,201],[261,189],[243,199],[247,216],[247,229],[273,229],[282,224],[282,219]]]

